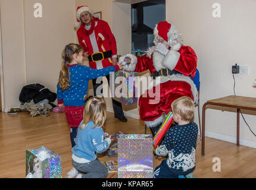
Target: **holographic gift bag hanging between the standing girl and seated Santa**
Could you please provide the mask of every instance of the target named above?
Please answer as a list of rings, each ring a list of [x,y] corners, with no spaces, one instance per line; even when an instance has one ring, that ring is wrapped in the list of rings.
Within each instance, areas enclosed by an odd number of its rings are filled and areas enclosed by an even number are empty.
[[[132,105],[138,103],[137,72],[126,71],[121,69],[115,72],[114,98],[117,102],[124,105]]]

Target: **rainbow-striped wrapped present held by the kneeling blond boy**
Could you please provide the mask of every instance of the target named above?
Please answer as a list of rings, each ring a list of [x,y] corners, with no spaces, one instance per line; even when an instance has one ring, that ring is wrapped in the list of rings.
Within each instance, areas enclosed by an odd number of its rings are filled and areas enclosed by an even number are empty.
[[[153,151],[155,151],[155,148],[160,143],[164,135],[166,134],[168,128],[170,128],[171,124],[173,122],[173,112],[169,112],[166,116],[166,119],[164,119],[163,124],[158,129],[157,134],[155,134],[155,137],[153,138]]]

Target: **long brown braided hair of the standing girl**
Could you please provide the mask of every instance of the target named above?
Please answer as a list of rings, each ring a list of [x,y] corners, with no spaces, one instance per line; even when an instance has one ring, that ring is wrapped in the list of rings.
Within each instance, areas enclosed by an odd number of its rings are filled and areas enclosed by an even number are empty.
[[[67,90],[70,87],[70,70],[68,69],[67,64],[70,64],[73,61],[74,53],[78,54],[82,50],[83,47],[76,43],[70,43],[65,46],[62,53],[63,66],[61,67],[60,77],[58,80],[61,90]]]

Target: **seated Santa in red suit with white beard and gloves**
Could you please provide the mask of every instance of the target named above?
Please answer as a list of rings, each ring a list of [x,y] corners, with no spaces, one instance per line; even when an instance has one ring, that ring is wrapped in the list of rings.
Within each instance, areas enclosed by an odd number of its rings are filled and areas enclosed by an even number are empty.
[[[197,94],[191,80],[196,73],[196,53],[191,47],[183,45],[182,35],[173,24],[167,21],[157,24],[154,45],[142,57],[127,54],[119,59],[119,62],[126,63],[124,69],[128,71],[143,72],[149,69],[151,76],[160,77],[160,81],[139,98],[139,115],[153,135],[163,123],[163,113],[171,111],[174,100],[188,96],[195,102]],[[156,92],[157,89],[160,91]],[[152,97],[152,94],[155,96]],[[155,99],[159,101],[152,103]]]

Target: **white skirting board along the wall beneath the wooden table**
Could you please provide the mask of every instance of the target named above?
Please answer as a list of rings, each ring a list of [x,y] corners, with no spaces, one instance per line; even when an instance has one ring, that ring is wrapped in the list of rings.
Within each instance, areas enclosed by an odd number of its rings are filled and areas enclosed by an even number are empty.
[[[229,143],[235,143],[236,144],[236,137],[232,137],[229,135],[223,135],[223,134],[218,134],[216,132],[211,132],[211,131],[205,131],[205,137],[210,137],[210,138],[216,138],[221,141],[227,141]],[[256,148],[256,142],[255,141],[249,141],[240,138],[239,139],[239,144],[244,145],[246,147],[251,147],[251,148]]]

